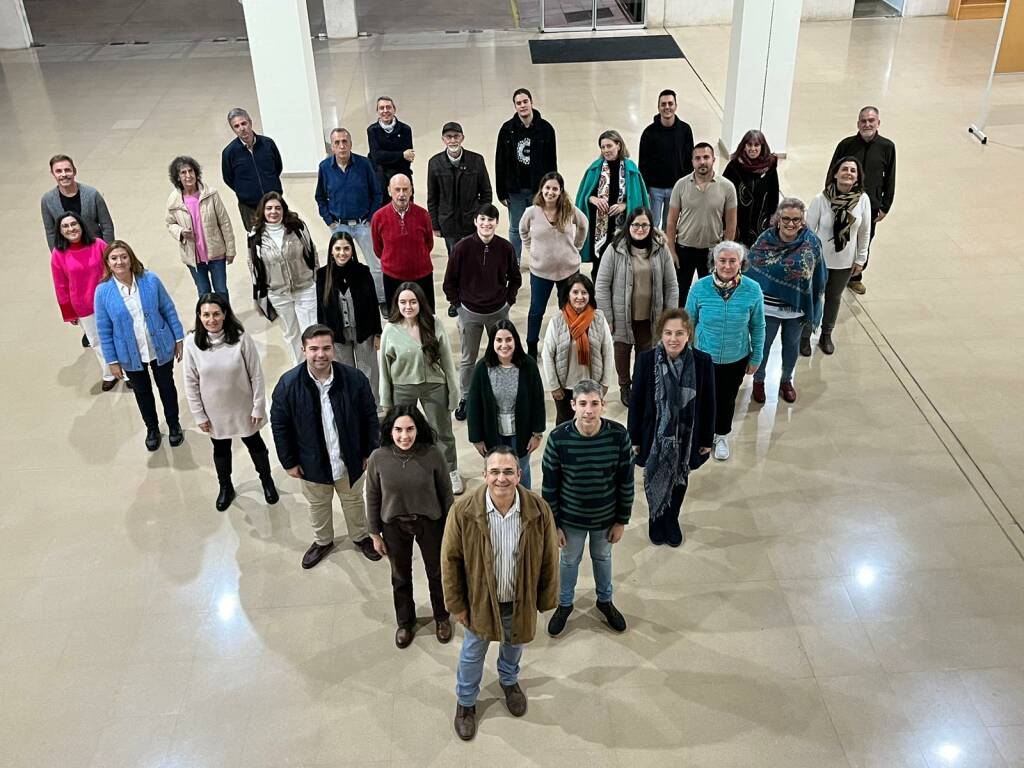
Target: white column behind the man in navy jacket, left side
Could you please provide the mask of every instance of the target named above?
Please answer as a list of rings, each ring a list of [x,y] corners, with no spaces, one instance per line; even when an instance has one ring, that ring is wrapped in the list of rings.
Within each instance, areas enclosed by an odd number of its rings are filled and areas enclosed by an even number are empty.
[[[243,0],[263,133],[285,175],[315,173],[324,159],[319,91],[305,0]]]

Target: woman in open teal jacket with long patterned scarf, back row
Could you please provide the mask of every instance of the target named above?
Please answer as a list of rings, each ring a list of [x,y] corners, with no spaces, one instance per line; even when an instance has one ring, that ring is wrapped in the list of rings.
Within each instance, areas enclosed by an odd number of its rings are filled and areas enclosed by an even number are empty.
[[[590,220],[587,242],[580,251],[584,262],[593,261],[591,280],[597,281],[601,256],[626,223],[626,214],[649,208],[647,185],[636,163],[630,160],[618,131],[605,131],[597,139],[601,157],[590,164],[577,190],[577,208]]]

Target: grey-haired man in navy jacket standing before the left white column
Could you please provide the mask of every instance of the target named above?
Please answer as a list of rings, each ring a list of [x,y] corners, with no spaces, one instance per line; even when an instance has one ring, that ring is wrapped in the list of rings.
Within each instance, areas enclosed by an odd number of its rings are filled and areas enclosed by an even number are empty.
[[[220,174],[239,199],[239,213],[246,231],[256,220],[256,204],[268,191],[284,193],[284,165],[278,145],[269,136],[253,131],[253,119],[241,106],[227,113],[227,124],[236,138],[220,153]]]

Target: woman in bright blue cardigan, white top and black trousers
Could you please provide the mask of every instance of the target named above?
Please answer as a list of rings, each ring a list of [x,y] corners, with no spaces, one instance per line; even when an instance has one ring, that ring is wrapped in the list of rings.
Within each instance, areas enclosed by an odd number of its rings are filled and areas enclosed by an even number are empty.
[[[181,360],[184,331],[160,278],[145,270],[123,240],[103,251],[103,280],[94,303],[103,359],[115,376],[128,376],[145,422],[146,449],[156,451],[162,439],[151,371],[164,406],[168,441],[180,445],[185,436],[178,421],[174,360]]]

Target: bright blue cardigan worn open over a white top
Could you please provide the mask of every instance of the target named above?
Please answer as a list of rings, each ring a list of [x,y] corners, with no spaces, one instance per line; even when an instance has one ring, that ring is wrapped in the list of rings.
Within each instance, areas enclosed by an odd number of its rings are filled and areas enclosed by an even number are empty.
[[[138,285],[139,298],[142,300],[145,327],[156,347],[150,351],[156,354],[157,365],[163,366],[174,356],[174,345],[184,339],[185,334],[178,322],[174,302],[171,301],[160,278],[145,271],[136,274],[135,282]],[[125,300],[121,297],[114,278],[96,286],[94,303],[96,331],[99,334],[103,359],[120,364],[125,371],[141,371],[142,364],[150,360],[143,360],[139,354],[131,312],[125,306]]]

